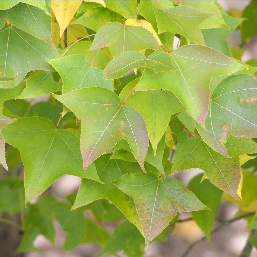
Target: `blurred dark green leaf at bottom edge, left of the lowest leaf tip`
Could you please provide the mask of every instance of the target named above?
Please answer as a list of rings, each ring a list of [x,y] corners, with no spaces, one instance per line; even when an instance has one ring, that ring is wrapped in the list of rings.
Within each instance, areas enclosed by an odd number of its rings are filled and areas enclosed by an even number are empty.
[[[128,221],[119,224],[103,248],[103,253],[115,254],[123,250],[128,257],[143,257],[144,238]]]

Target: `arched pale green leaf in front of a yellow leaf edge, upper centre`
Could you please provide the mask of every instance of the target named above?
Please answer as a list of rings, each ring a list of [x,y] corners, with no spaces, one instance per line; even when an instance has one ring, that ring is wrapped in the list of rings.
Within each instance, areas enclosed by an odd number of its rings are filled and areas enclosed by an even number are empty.
[[[96,50],[108,46],[115,57],[126,51],[142,49],[160,49],[154,35],[140,26],[131,26],[119,22],[109,22],[101,27],[95,35],[89,50]]]

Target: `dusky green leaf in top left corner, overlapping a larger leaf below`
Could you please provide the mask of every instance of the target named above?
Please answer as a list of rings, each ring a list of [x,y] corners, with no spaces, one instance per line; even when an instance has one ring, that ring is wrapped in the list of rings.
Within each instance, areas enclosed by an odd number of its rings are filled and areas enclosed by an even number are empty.
[[[15,27],[44,40],[53,49],[51,17],[37,7],[19,3],[9,10],[0,11],[0,19],[8,20]],[[24,22],[25,20],[30,22]]]

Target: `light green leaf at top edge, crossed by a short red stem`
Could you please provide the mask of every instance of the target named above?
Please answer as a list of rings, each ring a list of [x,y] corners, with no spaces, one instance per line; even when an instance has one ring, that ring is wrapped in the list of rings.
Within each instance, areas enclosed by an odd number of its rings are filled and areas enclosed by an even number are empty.
[[[158,5],[166,10],[168,8],[173,7],[173,4],[170,1],[156,1]],[[154,30],[157,32],[157,22],[156,22],[156,16],[157,16],[157,10],[158,6],[154,1],[140,1],[138,5],[138,14],[142,15],[147,21],[149,21]]]

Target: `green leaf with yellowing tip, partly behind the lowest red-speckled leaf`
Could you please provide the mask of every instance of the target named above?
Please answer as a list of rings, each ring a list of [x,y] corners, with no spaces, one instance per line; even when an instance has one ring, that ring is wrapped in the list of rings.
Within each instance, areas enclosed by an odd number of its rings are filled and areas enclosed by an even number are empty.
[[[88,205],[95,200],[105,198],[111,201],[143,233],[133,199],[112,183],[112,180],[116,180],[126,173],[142,172],[142,170],[136,162],[118,159],[109,160],[110,156],[111,154],[105,154],[95,161],[97,173],[105,184],[90,181],[90,179],[82,179],[75,203],[71,209],[73,210]]]

